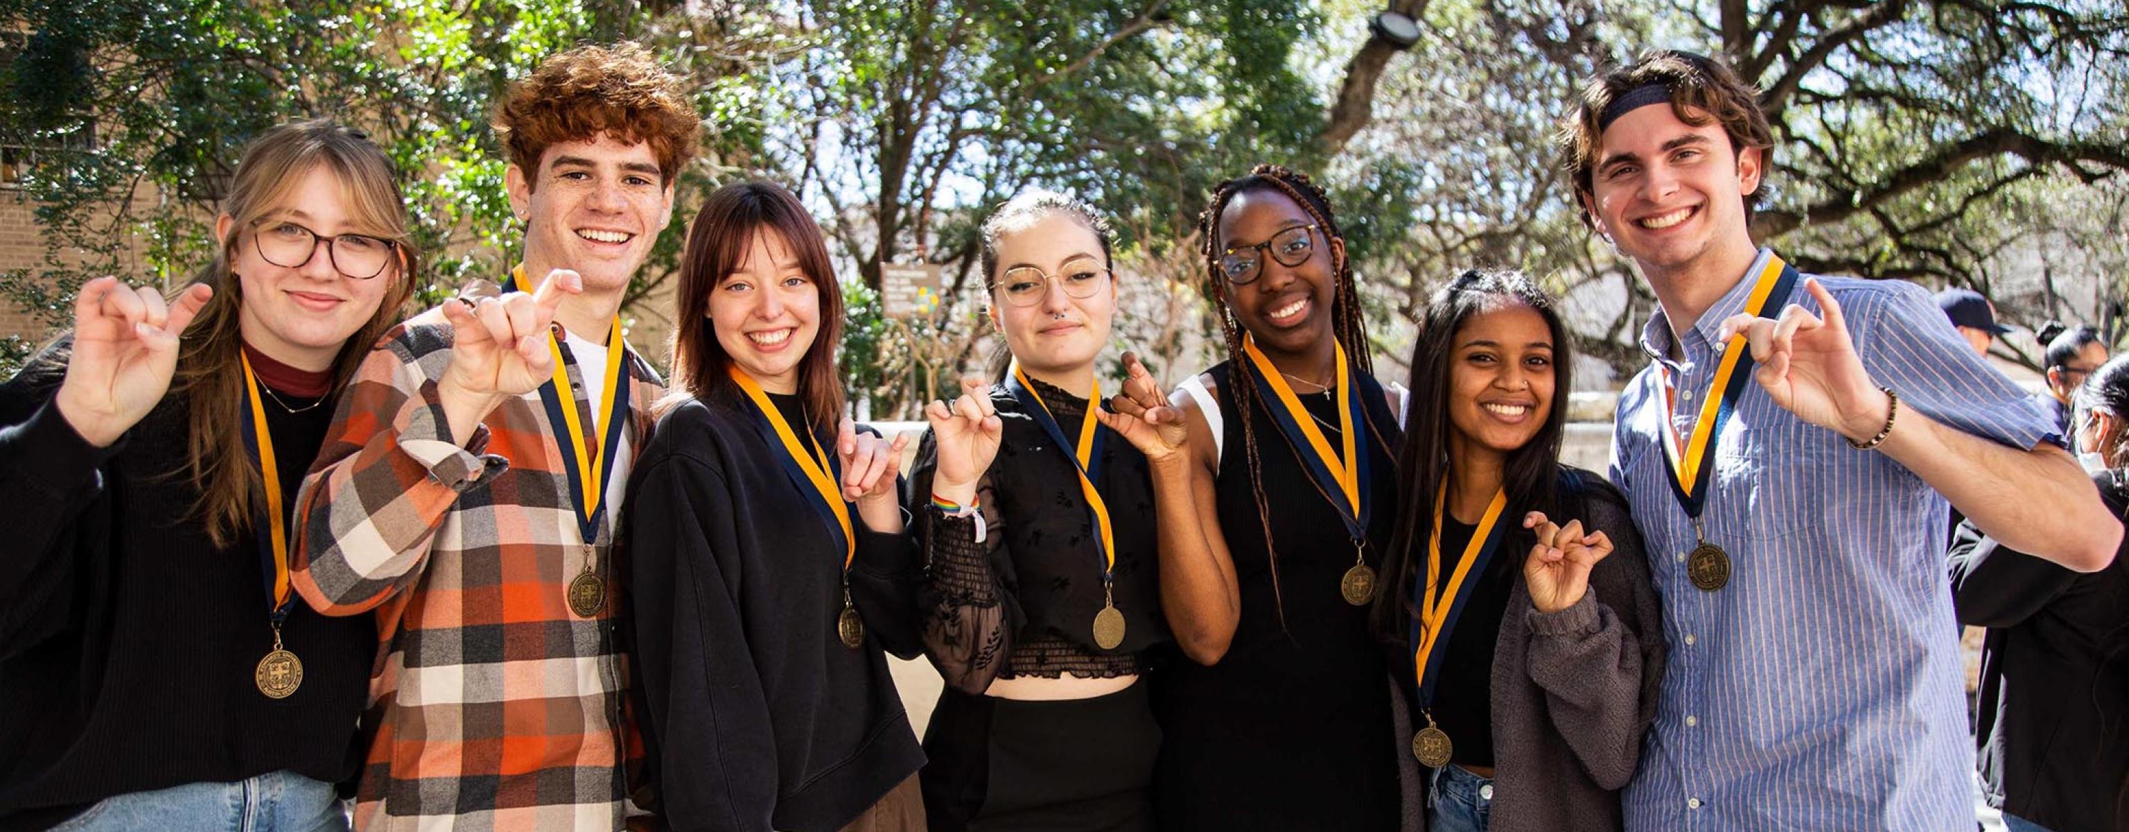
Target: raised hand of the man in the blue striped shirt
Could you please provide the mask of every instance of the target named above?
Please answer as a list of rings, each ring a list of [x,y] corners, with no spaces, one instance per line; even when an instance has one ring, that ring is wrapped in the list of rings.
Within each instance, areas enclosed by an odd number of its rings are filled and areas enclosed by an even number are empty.
[[[1884,426],[1891,400],[1869,379],[1842,304],[1816,279],[1803,281],[1825,317],[1788,304],[1782,319],[1731,315],[1720,340],[1744,334],[1752,349],[1752,381],[1799,419],[1865,440]]]

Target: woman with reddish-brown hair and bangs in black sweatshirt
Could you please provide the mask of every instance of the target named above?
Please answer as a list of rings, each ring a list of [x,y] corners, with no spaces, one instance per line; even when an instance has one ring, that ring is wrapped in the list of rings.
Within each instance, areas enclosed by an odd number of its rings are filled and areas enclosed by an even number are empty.
[[[924,751],[886,662],[922,651],[903,440],[839,419],[820,226],[777,185],[717,189],[679,311],[624,519],[660,811],[675,830],[920,830]]]

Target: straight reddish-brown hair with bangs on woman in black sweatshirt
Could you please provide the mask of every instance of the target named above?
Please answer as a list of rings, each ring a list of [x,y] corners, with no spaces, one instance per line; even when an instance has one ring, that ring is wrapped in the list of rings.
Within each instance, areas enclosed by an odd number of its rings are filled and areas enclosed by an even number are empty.
[[[835,368],[835,347],[843,343],[843,287],[835,283],[820,223],[792,192],[764,181],[724,185],[694,215],[688,249],[679,257],[673,394],[660,411],[735,387],[728,372],[732,355],[709,321],[709,296],[745,264],[756,234],[781,234],[813,292],[820,292],[820,328],[798,360],[798,398],[815,428],[835,432],[843,413],[843,379]]]

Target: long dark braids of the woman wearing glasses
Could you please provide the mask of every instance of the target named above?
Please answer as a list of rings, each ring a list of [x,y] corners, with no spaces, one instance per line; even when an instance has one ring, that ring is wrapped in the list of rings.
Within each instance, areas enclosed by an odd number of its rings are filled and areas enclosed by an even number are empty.
[[[1271,543],[1271,506],[1265,500],[1265,468],[1256,451],[1256,428],[1252,426],[1250,411],[1256,404],[1256,368],[1241,349],[1243,330],[1235,321],[1235,311],[1228,306],[1226,279],[1220,277],[1220,257],[1224,249],[1220,245],[1220,215],[1226,204],[1237,194],[1250,192],[1275,192],[1286,194],[1294,200],[1301,211],[1309,213],[1309,219],[1322,228],[1328,240],[1346,243],[1346,234],[1339,232],[1337,219],[1331,215],[1331,196],[1324,194],[1307,174],[1290,170],[1280,164],[1258,164],[1250,168],[1248,177],[1237,177],[1222,181],[1211,192],[1211,202],[1199,213],[1199,253],[1205,255],[1205,294],[1214,300],[1220,311],[1220,332],[1226,336],[1226,364],[1228,364],[1228,394],[1235,396],[1235,409],[1241,413],[1235,417],[1241,421],[1241,445],[1243,455],[1250,460],[1250,492],[1256,496],[1256,517],[1265,530],[1265,551],[1271,558],[1271,600],[1280,611],[1280,628],[1286,628],[1286,600],[1280,594],[1280,551]],[[1352,281],[1350,257],[1339,255],[1331,245],[1324,245],[1326,253],[1337,257],[1335,296],[1331,302],[1331,334],[1341,347],[1346,347],[1346,362],[1356,375],[1375,375],[1375,362],[1369,353],[1367,321],[1360,315],[1360,294]],[[1360,417],[1367,421],[1367,432],[1384,443],[1382,430],[1369,417],[1369,409],[1360,409]],[[1384,447],[1392,447],[1384,443]]]

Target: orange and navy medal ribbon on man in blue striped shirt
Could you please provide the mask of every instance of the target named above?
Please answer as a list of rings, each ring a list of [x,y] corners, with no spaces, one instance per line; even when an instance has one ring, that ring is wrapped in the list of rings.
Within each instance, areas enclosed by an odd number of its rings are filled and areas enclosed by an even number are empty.
[[[1746,313],[1765,317],[1767,306],[1778,304],[1788,298],[1788,292],[1797,285],[1797,270],[1767,251],[1763,260],[1754,262],[1759,266],[1759,277],[1752,283],[1752,294],[1746,298]],[[1737,398],[1744,396],[1746,385],[1752,379],[1752,347],[1746,345],[1744,332],[1731,336],[1722,345],[1722,362],[1716,364],[1714,383],[1710,383],[1710,394],[1701,398],[1701,413],[1693,421],[1693,440],[1686,443],[1678,436],[1678,426],[1671,421],[1671,413],[1678,413],[1678,385],[1671,379],[1671,370],[1656,364],[1663,377],[1663,455],[1667,464],[1663,472],[1671,481],[1671,494],[1678,496],[1678,504],[1686,509],[1686,517],[1701,517],[1701,509],[1707,502],[1707,481],[1714,477],[1712,464],[1707,464],[1710,451],[1716,447],[1716,438],[1722,436],[1722,426],[1729,423],[1731,413],[1737,406]]]

